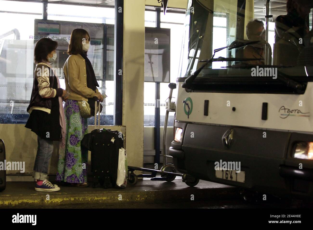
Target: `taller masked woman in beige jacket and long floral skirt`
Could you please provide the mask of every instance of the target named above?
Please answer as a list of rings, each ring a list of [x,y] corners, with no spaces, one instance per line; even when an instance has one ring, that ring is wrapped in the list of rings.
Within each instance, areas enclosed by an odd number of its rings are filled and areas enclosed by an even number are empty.
[[[68,100],[64,105],[66,120],[66,145],[60,150],[57,180],[67,185],[87,187],[88,151],[80,147],[87,133],[88,120],[80,115],[78,101],[89,101],[94,97],[103,101],[95,72],[87,58],[90,36],[84,29],[74,29],[71,34],[68,54],[63,66]],[[89,103],[90,106],[92,103]],[[94,105],[94,104],[93,104]]]

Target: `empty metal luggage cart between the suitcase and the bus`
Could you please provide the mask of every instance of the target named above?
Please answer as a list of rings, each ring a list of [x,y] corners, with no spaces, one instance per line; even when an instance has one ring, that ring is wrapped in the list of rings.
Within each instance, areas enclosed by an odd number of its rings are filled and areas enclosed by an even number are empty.
[[[166,102],[166,114],[164,119],[164,128],[163,128],[163,166],[161,170],[157,169],[147,169],[147,168],[139,168],[134,166],[128,166],[128,181],[127,183],[131,185],[135,185],[138,181],[138,177],[143,178],[151,178],[151,181],[167,181],[171,182],[175,180],[176,176],[182,176],[182,181],[185,182],[188,186],[196,186],[199,182],[199,179],[196,179],[187,174],[177,173],[175,166],[173,164],[167,164],[166,158],[172,158],[172,156],[166,155],[166,134],[167,134],[167,122],[168,115],[170,112],[175,112],[175,102],[172,102],[172,94],[173,89],[176,89],[175,83],[170,83],[168,85],[170,88],[170,95],[168,97],[168,101]],[[143,172],[151,172],[151,174],[140,174],[136,175],[134,171],[143,171]],[[156,177],[156,174],[161,174],[161,177]]]

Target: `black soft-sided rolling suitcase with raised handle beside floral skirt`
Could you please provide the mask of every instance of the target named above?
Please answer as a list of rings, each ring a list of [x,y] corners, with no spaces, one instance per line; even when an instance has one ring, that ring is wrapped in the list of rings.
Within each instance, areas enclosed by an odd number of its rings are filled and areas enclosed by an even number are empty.
[[[100,119],[98,120],[99,129],[86,134],[81,145],[91,151],[93,187],[100,183],[101,186],[109,188],[116,185],[119,149],[124,148],[124,139],[119,131],[100,129]]]

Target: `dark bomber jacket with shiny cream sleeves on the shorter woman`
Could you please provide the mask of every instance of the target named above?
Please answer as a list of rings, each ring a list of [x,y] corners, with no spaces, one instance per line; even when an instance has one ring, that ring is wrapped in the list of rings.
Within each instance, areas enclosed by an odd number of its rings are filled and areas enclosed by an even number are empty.
[[[63,89],[54,89],[54,79],[56,76],[48,64],[38,62],[34,71],[33,90],[27,112],[31,114],[33,110],[42,110],[50,114],[51,98],[62,96]]]

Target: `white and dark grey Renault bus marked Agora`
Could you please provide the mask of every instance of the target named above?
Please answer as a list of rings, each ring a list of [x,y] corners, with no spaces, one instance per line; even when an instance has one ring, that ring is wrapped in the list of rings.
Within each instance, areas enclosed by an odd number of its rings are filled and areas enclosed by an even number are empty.
[[[188,0],[169,155],[189,186],[313,196],[312,7]]]

